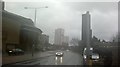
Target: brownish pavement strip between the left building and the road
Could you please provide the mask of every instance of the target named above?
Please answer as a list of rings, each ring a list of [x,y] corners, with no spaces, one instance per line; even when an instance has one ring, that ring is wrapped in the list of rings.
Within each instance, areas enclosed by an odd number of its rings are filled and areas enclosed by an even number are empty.
[[[23,62],[23,61],[32,60],[32,59],[38,59],[41,57],[47,57],[47,56],[51,56],[54,54],[55,54],[55,51],[46,51],[46,52],[34,53],[34,56],[32,56],[32,54],[30,54],[30,53],[20,55],[20,56],[3,56],[2,57],[2,65],[18,63],[18,62]]]

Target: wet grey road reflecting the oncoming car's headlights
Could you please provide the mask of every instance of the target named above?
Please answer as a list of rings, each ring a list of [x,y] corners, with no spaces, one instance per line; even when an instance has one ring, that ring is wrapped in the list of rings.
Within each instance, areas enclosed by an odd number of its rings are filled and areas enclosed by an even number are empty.
[[[15,65],[83,65],[82,55],[72,51],[63,51],[63,53],[63,57],[56,57],[55,52],[53,52],[52,56],[17,63]]]

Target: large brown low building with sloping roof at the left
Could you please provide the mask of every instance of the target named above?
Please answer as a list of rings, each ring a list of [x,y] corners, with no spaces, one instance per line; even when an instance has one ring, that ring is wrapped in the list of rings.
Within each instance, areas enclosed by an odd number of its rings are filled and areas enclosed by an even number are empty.
[[[37,47],[38,38],[42,31],[34,26],[31,19],[25,18],[6,10],[2,10],[2,51],[21,48],[31,51]]]

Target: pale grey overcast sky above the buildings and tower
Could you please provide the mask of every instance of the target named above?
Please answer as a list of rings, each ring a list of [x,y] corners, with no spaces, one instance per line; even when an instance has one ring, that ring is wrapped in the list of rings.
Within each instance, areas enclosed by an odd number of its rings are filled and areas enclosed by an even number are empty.
[[[81,39],[82,14],[90,11],[93,36],[107,41],[118,31],[117,2],[6,2],[5,9],[9,12],[31,18],[34,21],[34,10],[24,7],[43,7],[37,10],[36,26],[49,35],[50,43],[54,42],[56,28],[63,28],[65,35]]]

